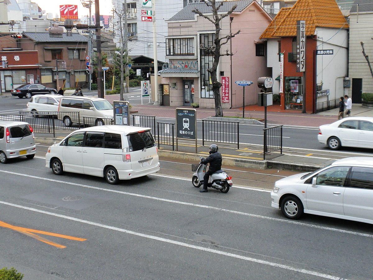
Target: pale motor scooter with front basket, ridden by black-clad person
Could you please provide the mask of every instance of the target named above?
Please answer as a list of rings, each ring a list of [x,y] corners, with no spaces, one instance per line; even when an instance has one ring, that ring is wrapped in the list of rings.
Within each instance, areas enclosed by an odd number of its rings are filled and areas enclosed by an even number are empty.
[[[200,156],[200,159],[204,159]],[[207,164],[192,164],[192,171],[195,171],[192,177],[192,184],[198,188],[203,184],[203,176],[206,173]],[[222,193],[228,193],[229,187],[233,186],[232,177],[228,172],[220,169],[210,175],[207,187],[220,190]]]

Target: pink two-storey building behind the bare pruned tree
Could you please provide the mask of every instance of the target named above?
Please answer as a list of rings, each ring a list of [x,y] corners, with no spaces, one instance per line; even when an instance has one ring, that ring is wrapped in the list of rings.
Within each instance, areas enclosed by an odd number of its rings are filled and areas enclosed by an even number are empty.
[[[217,2],[218,4],[218,2]],[[266,42],[260,35],[272,18],[255,0],[227,1],[219,13],[225,14],[233,5],[236,9],[220,22],[220,36],[241,30],[236,37],[222,46],[222,54],[217,69],[218,80],[223,82],[223,94],[220,91],[223,109],[241,107],[243,87],[235,81],[253,81],[245,87],[245,105],[257,102],[259,77],[269,76],[266,66]],[[214,108],[210,73],[212,54],[201,50],[199,46],[213,46],[214,25],[207,19],[192,12],[197,8],[205,15],[211,15],[211,8],[205,3],[189,3],[167,21],[166,60],[160,75],[162,77],[163,105],[182,106],[199,103],[203,108]],[[169,88],[169,91],[167,90]],[[167,94],[168,93],[168,94]]]

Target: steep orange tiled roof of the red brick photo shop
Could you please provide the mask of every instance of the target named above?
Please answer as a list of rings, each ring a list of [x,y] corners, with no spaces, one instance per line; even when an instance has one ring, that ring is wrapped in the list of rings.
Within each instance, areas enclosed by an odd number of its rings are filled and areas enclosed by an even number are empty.
[[[271,37],[268,37],[265,31],[262,36],[265,35],[265,38],[296,36],[297,20],[305,20],[307,36],[314,35],[316,27],[348,28],[348,23],[335,0],[298,0],[280,24],[277,22],[276,30],[272,32]]]

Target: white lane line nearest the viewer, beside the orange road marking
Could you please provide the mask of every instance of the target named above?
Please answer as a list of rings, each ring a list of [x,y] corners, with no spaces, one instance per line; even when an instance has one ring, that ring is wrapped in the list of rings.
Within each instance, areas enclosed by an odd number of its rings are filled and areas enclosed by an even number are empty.
[[[256,262],[258,264],[264,264],[264,265],[270,265],[272,267],[283,268],[283,269],[286,269],[286,270],[296,271],[296,272],[309,274],[309,275],[313,275],[313,276],[317,276],[317,277],[323,277],[323,278],[326,278],[326,279],[333,279],[333,280],[341,279],[340,277],[336,277],[336,276],[325,274],[325,273],[319,273],[317,271],[291,267],[289,265],[283,265],[283,264],[279,264],[279,263],[276,263],[276,262],[264,261],[262,259],[250,258],[250,257],[247,257],[247,256],[237,255],[237,254],[233,254],[233,253],[219,251],[219,250],[216,250],[216,249],[210,249],[210,248],[205,248],[205,247],[202,247],[202,246],[196,246],[196,245],[192,245],[192,244],[188,244],[188,243],[184,243],[184,242],[179,242],[179,241],[172,240],[172,239],[166,239],[166,238],[162,238],[162,237],[158,237],[158,236],[153,236],[153,235],[150,235],[150,234],[138,233],[138,232],[135,232],[135,231],[132,231],[132,230],[126,230],[124,228],[113,227],[111,225],[105,225],[105,224],[99,224],[99,223],[95,223],[95,222],[92,222],[92,221],[82,220],[82,219],[78,219],[78,218],[74,218],[74,217],[70,217],[70,216],[66,216],[66,215],[60,215],[60,214],[56,214],[56,213],[53,213],[53,212],[48,212],[48,211],[39,210],[39,209],[31,208],[31,207],[17,205],[17,204],[14,204],[14,203],[9,203],[9,202],[4,202],[4,201],[0,201],[0,203],[4,204],[4,205],[8,205],[8,206],[13,206],[13,207],[29,210],[29,211],[38,212],[38,213],[41,213],[41,214],[47,214],[47,215],[50,215],[50,216],[63,218],[63,219],[66,219],[66,220],[76,221],[76,222],[79,222],[79,223],[94,225],[96,227],[107,228],[109,230],[115,230],[115,231],[119,231],[119,232],[123,232],[123,233],[132,234],[132,235],[135,235],[135,236],[140,236],[140,237],[144,237],[144,238],[148,238],[148,239],[153,239],[153,240],[157,240],[157,241],[161,241],[161,242],[166,242],[166,243],[170,243],[170,244],[174,244],[174,245],[179,245],[179,246],[183,246],[183,247],[186,247],[186,248],[196,249],[196,250],[200,250],[200,251],[219,254],[219,255],[228,256],[228,257],[237,258],[237,259],[243,259],[245,261]]]

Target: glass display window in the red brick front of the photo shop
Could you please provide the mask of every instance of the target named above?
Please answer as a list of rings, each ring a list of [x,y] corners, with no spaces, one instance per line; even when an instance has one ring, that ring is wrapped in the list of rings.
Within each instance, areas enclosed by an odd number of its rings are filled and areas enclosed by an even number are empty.
[[[303,77],[285,77],[285,109],[303,109]]]

